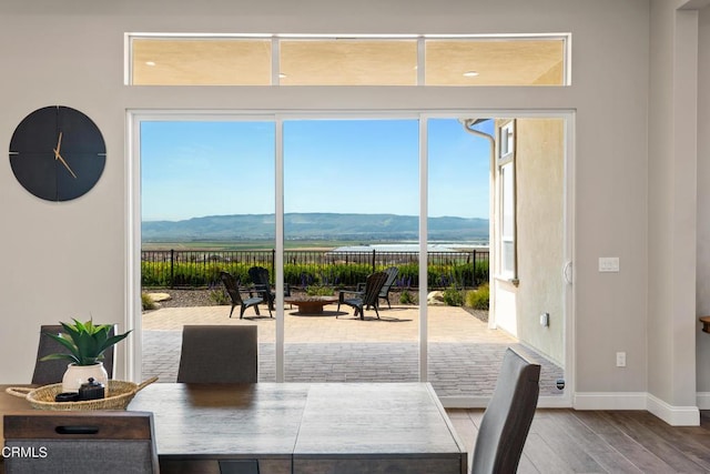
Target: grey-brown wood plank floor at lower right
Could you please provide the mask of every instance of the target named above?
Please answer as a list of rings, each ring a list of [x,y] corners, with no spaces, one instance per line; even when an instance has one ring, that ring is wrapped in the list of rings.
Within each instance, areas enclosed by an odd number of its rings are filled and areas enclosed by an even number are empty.
[[[483,410],[447,410],[473,457]],[[643,411],[538,410],[518,473],[709,473],[710,412],[670,426]]]

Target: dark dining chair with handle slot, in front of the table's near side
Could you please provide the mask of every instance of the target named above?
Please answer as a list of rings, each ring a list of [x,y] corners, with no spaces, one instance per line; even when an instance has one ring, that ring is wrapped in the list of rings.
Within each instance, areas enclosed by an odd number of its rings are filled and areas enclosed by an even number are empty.
[[[39,411],[2,423],[6,474],[160,472],[152,413]]]

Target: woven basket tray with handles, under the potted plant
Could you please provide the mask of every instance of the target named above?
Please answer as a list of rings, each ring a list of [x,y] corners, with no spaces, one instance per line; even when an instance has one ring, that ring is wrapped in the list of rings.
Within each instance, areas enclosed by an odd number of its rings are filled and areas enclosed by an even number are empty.
[[[62,392],[61,383],[44,385],[38,389],[10,386],[6,389],[6,392],[10,395],[27,399],[30,405],[38,410],[53,410],[59,412],[73,410],[125,410],[138,392],[156,380],[158,377],[151,377],[140,384],[110,380],[108,386],[109,396],[81,402],[54,402],[57,394]]]

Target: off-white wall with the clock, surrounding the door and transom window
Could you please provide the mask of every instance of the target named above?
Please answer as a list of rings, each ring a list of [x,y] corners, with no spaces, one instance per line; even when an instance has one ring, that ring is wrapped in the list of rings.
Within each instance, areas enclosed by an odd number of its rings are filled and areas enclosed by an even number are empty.
[[[123,33],[572,32],[569,88],[131,88]],[[0,167],[3,266],[0,382],[29,380],[37,327],[93,314],[124,322],[126,109],[564,109],[577,111],[575,313],[577,392],[649,387],[647,294],[647,0],[227,1],[6,0],[0,4],[0,148],[30,111],[64,104],[89,114],[108,148],[104,177],[83,198],[40,202]],[[11,46],[11,47],[10,47]],[[623,124],[623,127],[619,127]],[[619,256],[621,272],[597,271]],[[641,336],[639,336],[641,335]],[[694,335],[693,335],[694,337]],[[658,342],[658,341],[655,341]],[[662,341],[661,341],[662,345]],[[628,366],[615,367],[626,351]],[[670,364],[674,364],[671,361]],[[120,367],[121,369],[121,367]],[[665,397],[666,391],[658,393]],[[668,395],[669,403],[674,403]]]

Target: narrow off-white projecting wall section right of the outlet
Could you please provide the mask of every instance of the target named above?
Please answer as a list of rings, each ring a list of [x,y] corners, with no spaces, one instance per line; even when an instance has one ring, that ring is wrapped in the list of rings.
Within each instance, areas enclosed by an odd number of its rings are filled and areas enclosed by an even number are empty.
[[[649,410],[690,421],[697,404],[697,12],[652,0],[651,30]]]

